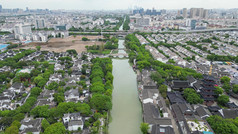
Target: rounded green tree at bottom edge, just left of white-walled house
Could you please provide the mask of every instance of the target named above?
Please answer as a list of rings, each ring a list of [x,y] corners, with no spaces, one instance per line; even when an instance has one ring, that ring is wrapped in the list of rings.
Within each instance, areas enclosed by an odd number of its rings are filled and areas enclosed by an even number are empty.
[[[66,129],[63,123],[57,122],[46,128],[44,134],[65,134]]]

